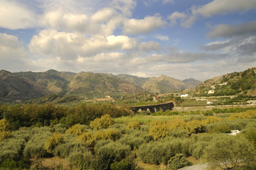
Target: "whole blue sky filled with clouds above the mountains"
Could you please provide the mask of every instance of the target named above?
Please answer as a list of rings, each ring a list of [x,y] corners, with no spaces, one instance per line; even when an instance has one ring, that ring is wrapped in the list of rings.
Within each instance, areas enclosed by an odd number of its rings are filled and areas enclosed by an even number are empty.
[[[0,0],[0,69],[201,81],[256,67],[256,0]]]

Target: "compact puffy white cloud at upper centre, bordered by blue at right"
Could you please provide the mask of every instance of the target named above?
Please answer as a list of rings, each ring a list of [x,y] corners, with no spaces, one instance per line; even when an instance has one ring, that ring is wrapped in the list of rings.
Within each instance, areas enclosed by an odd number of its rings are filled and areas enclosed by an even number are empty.
[[[123,23],[123,33],[129,35],[150,33],[152,30],[165,26],[165,23],[159,14],[146,16],[144,19],[129,19]]]

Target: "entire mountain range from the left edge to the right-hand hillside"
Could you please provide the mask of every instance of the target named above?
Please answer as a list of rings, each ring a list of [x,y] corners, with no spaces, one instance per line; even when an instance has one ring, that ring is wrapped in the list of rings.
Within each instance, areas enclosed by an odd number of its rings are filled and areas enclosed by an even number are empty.
[[[160,77],[135,77],[128,74],[100,74],[92,72],[8,72],[0,71],[0,101],[40,98],[49,94],[75,95],[83,98],[101,98],[126,94],[165,94],[191,89],[201,81],[179,81]]]

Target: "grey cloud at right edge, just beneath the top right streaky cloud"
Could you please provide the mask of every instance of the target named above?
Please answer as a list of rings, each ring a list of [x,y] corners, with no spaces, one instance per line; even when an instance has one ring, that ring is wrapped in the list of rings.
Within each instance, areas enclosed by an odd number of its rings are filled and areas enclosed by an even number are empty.
[[[241,23],[236,26],[221,24],[213,28],[213,30],[207,35],[209,38],[232,38],[236,35],[245,35],[250,33],[256,33],[256,21]]]

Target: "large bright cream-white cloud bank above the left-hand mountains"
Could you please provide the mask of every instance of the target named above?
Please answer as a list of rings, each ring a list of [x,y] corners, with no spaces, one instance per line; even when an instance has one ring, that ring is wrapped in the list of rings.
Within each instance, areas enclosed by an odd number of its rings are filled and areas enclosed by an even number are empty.
[[[87,38],[80,33],[41,30],[30,41],[30,52],[45,56],[61,57],[63,60],[88,57],[105,51],[132,50],[137,41],[125,35],[95,35]]]

